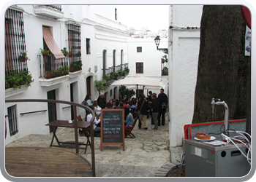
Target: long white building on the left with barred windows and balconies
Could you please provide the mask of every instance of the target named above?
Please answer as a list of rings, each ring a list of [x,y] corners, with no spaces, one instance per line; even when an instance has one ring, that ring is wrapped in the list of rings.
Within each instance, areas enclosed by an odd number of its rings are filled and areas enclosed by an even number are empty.
[[[6,73],[9,69],[29,70],[34,79],[31,87],[6,89],[7,100],[53,98],[81,103],[87,93],[91,93],[91,100],[96,100],[99,93],[94,80],[102,79],[109,67],[128,66],[127,27],[118,22],[116,5],[18,5],[7,9],[5,20]],[[61,53],[64,47],[72,51],[72,58]],[[50,50],[50,56],[43,59],[40,48]],[[20,62],[18,57],[25,51],[29,60]],[[56,74],[65,64],[70,69],[75,67],[74,63],[83,66],[63,72],[62,76]],[[50,73],[52,76],[48,77]],[[105,97],[118,98],[116,90],[108,87]],[[6,103],[4,112],[6,143],[29,134],[49,134],[45,124],[73,117],[71,108],[59,103]],[[23,114],[29,112],[34,113]],[[84,116],[85,111],[78,109],[79,114]]]

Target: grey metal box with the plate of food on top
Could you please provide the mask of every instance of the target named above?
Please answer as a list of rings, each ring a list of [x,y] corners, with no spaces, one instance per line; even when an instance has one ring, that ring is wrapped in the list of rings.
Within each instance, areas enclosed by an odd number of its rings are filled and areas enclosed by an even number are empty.
[[[246,154],[246,146],[238,143]],[[185,140],[186,177],[242,177],[249,173],[246,157],[234,146],[211,146],[203,142]]]

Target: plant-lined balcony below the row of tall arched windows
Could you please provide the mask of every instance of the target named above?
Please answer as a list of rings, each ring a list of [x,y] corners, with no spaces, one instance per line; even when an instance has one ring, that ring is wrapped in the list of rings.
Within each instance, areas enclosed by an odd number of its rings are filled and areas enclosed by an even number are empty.
[[[107,69],[102,69],[103,76],[102,79],[105,79],[108,84],[112,84],[115,80],[123,79],[129,74],[128,63],[124,63],[118,66],[113,66]]]

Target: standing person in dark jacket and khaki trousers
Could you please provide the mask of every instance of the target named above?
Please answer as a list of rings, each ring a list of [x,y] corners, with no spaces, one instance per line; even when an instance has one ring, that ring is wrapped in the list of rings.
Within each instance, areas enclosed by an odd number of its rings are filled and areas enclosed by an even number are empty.
[[[148,127],[146,127],[148,110],[149,110],[148,101],[146,100],[145,95],[142,95],[138,102],[138,111],[140,111],[140,122],[141,122],[141,128],[143,130],[148,130]]]

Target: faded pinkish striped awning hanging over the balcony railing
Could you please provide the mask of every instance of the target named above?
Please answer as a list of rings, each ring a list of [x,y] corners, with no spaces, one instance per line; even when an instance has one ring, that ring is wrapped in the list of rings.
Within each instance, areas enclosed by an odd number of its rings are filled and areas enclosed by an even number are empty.
[[[56,60],[64,59],[65,56],[63,55],[61,50],[59,50],[59,47],[57,46],[56,42],[54,41],[53,35],[50,32],[50,28],[43,27],[42,28],[42,35],[43,35],[43,38],[45,40],[45,44],[47,45],[47,47],[50,50],[50,52],[53,53],[54,58]]]

